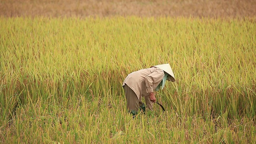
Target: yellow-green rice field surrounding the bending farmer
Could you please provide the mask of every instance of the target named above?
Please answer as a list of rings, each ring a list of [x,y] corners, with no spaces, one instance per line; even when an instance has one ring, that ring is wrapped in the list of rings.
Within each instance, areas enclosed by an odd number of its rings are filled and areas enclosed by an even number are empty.
[[[255,18],[0,18],[0,143],[256,143]],[[153,111],[131,72],[169,63]]]

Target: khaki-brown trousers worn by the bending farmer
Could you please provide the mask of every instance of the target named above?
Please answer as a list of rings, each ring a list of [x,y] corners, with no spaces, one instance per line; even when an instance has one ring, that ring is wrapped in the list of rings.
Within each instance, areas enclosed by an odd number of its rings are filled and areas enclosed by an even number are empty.
[[[138,100],[137,95],[135,92],[126,84],[124,85],[124,94],[126,96],[127,100],[127,110],[134,110],[138,112],[139,106],[142,106],[142,96],[140,96],[140,99]],[[152,110],[153,108],[153,102],[150,101],[149,94],[145,96],[145,102],[148,109]]]

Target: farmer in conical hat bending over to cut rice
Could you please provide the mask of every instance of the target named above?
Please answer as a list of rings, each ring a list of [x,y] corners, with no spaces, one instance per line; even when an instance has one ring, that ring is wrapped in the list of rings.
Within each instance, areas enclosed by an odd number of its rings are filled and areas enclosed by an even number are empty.
[[[175,81],[170,64],[160,64],[128,74],[122,85],[128,111],[133,116],[138,113],[139,108],[145,112],[142,97],[145,97],[147,108],[152,110],[153,103],[156,102],[154,91],[158,91],[160,87],[163,89],[166,80]]]

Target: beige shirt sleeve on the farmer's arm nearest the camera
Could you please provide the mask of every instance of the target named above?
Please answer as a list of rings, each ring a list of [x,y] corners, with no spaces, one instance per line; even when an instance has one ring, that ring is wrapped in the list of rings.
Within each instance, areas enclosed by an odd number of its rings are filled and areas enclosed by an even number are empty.
[[[147,93],[154,92],[153,83],[160,83],[164,78],[164,71],[157,68],[154,72],[145,77],[146,91]]]

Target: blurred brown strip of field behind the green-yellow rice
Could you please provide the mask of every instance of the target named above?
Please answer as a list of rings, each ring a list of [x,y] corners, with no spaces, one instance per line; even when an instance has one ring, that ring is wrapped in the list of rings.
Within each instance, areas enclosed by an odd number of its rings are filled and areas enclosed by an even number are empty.
[[[0,16],[254,17],[256,0],[0,0]]]

